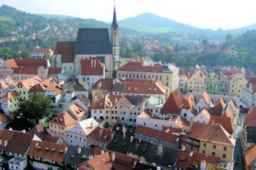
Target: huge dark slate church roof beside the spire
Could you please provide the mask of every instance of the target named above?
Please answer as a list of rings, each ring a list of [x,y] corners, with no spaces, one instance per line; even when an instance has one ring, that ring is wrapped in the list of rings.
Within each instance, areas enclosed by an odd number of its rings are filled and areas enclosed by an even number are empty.
[[[112,54],[109,31],[107,29],[79,29],[75,53]]]

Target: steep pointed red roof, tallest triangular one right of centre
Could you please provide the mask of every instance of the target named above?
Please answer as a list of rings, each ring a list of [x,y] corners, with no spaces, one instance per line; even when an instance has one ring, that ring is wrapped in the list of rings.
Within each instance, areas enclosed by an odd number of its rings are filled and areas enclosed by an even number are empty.
[[[175,89],[162,106],[161,113],[181,113],[181,106],[184,104],[184,97],[180,89]]]

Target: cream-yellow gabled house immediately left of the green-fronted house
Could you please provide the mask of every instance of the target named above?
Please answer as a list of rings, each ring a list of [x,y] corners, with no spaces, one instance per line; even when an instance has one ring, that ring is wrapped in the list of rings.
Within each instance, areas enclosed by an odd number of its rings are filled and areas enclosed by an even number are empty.
[[[186,83],[186,91],[204,91],[205,78],[199,73],[194,73]]]

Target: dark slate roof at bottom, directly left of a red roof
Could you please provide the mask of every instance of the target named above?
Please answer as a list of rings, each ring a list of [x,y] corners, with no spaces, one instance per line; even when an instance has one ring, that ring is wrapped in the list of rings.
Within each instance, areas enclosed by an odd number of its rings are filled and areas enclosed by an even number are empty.
[[[178,148],[162,146],[162,155],[158,156],[158,144],[152,144],[146,157],[146,161],[160,164],[165,167],[168,167],[168,165],[175,166],[178,160],[179,152],[180,150]]]

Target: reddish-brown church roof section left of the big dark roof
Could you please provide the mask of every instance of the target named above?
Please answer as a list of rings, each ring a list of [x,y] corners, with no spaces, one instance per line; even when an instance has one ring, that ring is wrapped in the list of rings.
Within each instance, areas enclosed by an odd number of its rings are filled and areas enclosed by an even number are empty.
[[[74,62],[75,42],[57,42],[54,54],[62,55],[62,62]]]

